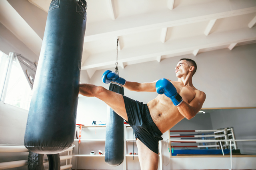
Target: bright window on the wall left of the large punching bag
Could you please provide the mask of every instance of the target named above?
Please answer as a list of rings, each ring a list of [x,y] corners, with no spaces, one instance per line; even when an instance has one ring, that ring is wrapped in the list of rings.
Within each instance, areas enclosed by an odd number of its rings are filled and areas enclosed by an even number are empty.
[[[23,68],[24,65],[19,62],[18,55],[14,53],[10,53],[9,56],[2,55],[0,60],[1,100],[4,103],[28,110],[32,90],[26,77],[28,70]]]

